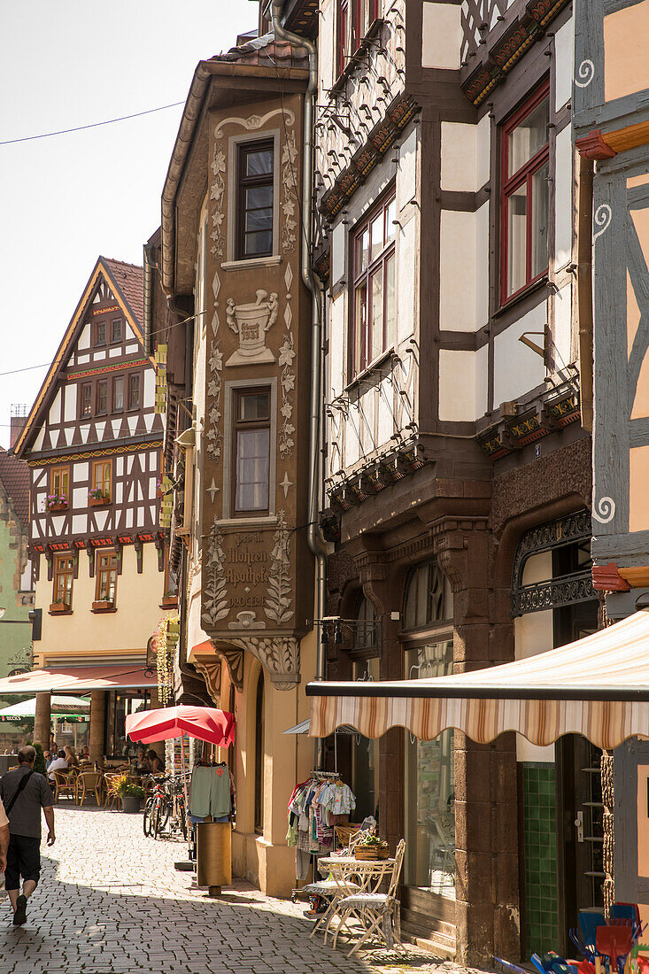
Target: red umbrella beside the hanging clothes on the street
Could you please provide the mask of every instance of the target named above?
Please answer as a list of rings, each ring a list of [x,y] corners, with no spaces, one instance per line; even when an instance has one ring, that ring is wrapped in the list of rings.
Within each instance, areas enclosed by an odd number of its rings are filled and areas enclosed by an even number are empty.
[[[215,707],[164,707],[130,714],[126,730],[132,740],[150,744],[170,737],[198,737],[217,747],[228,747],[234,741],[234,714]]]

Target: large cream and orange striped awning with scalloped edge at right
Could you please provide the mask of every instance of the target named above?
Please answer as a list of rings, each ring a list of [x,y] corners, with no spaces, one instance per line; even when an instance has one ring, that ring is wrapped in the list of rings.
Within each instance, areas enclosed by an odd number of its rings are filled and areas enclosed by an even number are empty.
[[[649,736],[649,612],[557,650],[429,680],[310,683],[311,735],[351,725],[366,737],[403,727],[422,740],[454,728],[487,743],[517,731],[533,744],[566,733],[611,749]]]

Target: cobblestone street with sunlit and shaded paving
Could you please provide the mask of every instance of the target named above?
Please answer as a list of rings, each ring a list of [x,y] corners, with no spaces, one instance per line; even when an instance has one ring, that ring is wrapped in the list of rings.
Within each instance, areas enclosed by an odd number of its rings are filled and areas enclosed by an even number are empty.
[[[9,901],[0,903],[0,974],[466,970],[411,950],[349,960],[346,945],[333,951],[308,939],[302,903],[243,882],[210,900],[173,869],[186,846],[145,839],[140,815],[58,805],[56,816],[57,843],[43,846],[25,926],[13,927]]]

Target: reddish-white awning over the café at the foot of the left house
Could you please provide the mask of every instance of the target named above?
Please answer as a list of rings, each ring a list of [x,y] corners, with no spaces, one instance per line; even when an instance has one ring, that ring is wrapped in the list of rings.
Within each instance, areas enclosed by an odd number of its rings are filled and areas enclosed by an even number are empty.
[[[1,693],[88,693],[91,690],[144,690],[157,687],[158,677],[145,666],[61,666],[30,670],[0,680]]]

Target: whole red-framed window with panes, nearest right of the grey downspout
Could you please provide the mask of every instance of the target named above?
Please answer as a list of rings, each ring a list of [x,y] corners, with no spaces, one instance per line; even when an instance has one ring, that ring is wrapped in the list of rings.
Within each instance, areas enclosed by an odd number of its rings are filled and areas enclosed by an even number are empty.
[[[394,197],[354,235],[354,372],[361,372],[394,342],[396,322]]]

